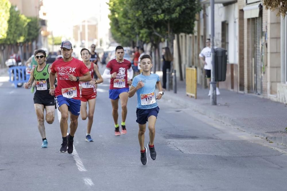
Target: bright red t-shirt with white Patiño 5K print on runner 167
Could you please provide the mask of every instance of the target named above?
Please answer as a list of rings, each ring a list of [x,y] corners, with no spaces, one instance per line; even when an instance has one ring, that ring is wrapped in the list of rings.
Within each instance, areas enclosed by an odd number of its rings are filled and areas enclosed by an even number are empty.
[[[89,71],[87,66],[82,62],[81,60],[78,60],[76,58],[73,58],[69,62],[64,62],[63,59],[56,60],[53,62],[51,66],[51,72],[57,73],[57,82],[58,86],[55,90],[55,96],[62,95],[65,93],[71,92],[71,89],[65,88],[73,88],[75,87],[75,90],[77,90],[77,95],[75,97],[72,97],[73,99],[80,99],[80,90],[79,90],[79,82],[73,82],[69,80],[68,74],[73,74],[74,76],[81,76],[86,74]],[[75,92],[73,90],[73,92]],[[74,94],[75,95],[75,94]],[[69,96],[74,96],[69,93]]]

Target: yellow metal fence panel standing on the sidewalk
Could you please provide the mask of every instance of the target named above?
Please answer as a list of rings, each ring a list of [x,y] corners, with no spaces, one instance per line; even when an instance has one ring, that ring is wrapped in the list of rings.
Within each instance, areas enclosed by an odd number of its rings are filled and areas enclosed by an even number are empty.
[[[186,95],[196,99],[197,76],[196,68],[186,68]]]

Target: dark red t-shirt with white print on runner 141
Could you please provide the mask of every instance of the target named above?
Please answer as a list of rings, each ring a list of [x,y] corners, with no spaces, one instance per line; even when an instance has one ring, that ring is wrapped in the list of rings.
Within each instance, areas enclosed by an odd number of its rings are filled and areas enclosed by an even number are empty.
[[[129,88],[127,84],[127,70],[131,68],[129,60],[124,59],[123,62],[119,62],[116,59],[110,60],[106,68],[110,70],[110,74],[117,72],[117,77],[110,80],[110,89]],[[123,84],[123,80],[125,84]]]

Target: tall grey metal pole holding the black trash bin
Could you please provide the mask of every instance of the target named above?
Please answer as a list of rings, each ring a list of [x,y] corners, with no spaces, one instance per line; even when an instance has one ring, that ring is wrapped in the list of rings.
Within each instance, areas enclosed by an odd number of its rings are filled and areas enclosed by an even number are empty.
[[[210,0],[210,17],[211,17],[211,82],[210,82],[210,104],[216,105],[216,82],[215,82],[215,55],[214,55],[214,0]]]

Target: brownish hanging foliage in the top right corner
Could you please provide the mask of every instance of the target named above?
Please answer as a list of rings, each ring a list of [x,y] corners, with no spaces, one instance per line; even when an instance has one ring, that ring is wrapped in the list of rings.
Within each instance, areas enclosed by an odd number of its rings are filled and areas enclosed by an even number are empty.
[[[284,18],[286,16],[287,12],[286,0],[263,0],[263,5],[265,6],[265,9],[270,9],[271,11],[274,11],[279,7],[277,17],[282,15],[282,17]]]

